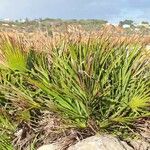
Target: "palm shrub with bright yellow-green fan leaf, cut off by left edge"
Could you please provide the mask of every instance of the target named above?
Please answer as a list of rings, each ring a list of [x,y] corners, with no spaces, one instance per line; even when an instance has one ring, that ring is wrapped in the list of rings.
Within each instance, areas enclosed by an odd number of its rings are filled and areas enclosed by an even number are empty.
[[[3,58],[0,62],[0,107],[4,112],[0,114],[0,149],[12,150],[14,138],[22,139],[14,136],[18,125],[24,121],[30,126],[35,124],[36,118],[31,111],[39,109],[42,101],[38,98],[38,89],[26,80],[29,54],[8,38],[1,43],[0,49]]]

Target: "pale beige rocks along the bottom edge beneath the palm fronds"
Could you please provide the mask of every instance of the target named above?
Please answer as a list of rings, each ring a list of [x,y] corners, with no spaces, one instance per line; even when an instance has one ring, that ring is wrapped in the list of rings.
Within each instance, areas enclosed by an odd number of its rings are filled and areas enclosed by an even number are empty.
[[[43,145],[38,150],[62,150],[60,144]],[[121,141],[111,135],[96,135],[71,145],[67,150],[150,150],[150,143],[144,140]]]

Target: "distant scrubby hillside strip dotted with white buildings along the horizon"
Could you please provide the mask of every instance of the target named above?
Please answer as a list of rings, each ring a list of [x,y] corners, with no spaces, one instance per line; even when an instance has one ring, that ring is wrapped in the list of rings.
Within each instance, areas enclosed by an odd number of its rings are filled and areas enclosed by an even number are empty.
[[[11,20],[0,20],[0,29],[1,31],[14,31],[19,32],[28,32],[33,33],[35,31],[44,31],[48,32],[51,35],[51,32],[55,29],[56,31],[66,31],[67,26],[82,26],[86,31],[99,31],[105,26],[108,26],[109,23],[106,20],[102,19],[34,19],[30,20],[20,19],[16,21]],[[150,24],[147,21],[141,21],[139,23],[134,22],[133,20],[122,20],[118,24],[112,24],[114,27],[120,27],[124,29],[124,34],[150,34]]]

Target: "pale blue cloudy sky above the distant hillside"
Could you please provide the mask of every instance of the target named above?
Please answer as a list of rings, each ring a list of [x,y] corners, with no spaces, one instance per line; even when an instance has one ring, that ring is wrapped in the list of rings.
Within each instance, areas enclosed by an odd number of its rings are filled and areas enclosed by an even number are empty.
[[[150,0],[0,0],[0,18],[150,21]]]

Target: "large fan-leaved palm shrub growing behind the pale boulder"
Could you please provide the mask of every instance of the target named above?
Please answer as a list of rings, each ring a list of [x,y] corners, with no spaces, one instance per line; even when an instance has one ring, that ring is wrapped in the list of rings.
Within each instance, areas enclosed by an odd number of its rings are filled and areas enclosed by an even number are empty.
[[[104,129],[125,127],[150,115],[149,66],[141,46],[125,41],[116,45],[102,37],[64,42],[53,48],[51,61],[46,54],[39,56],[29,81],[75,126],[94,121]]]

